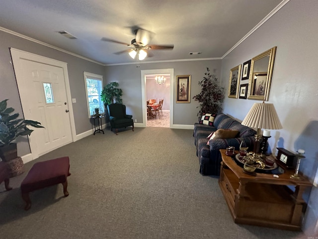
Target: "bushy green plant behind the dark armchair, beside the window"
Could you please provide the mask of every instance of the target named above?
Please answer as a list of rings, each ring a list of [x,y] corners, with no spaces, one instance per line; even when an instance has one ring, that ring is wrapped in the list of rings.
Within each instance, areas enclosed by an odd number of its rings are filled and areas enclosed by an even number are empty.
[[[121,99],[123,91],[122,89],[119,89],[118,86],[118,82],[111,81],[103,88],[100,98],[104,102],[105,106],[113,103],[123,103]]]

